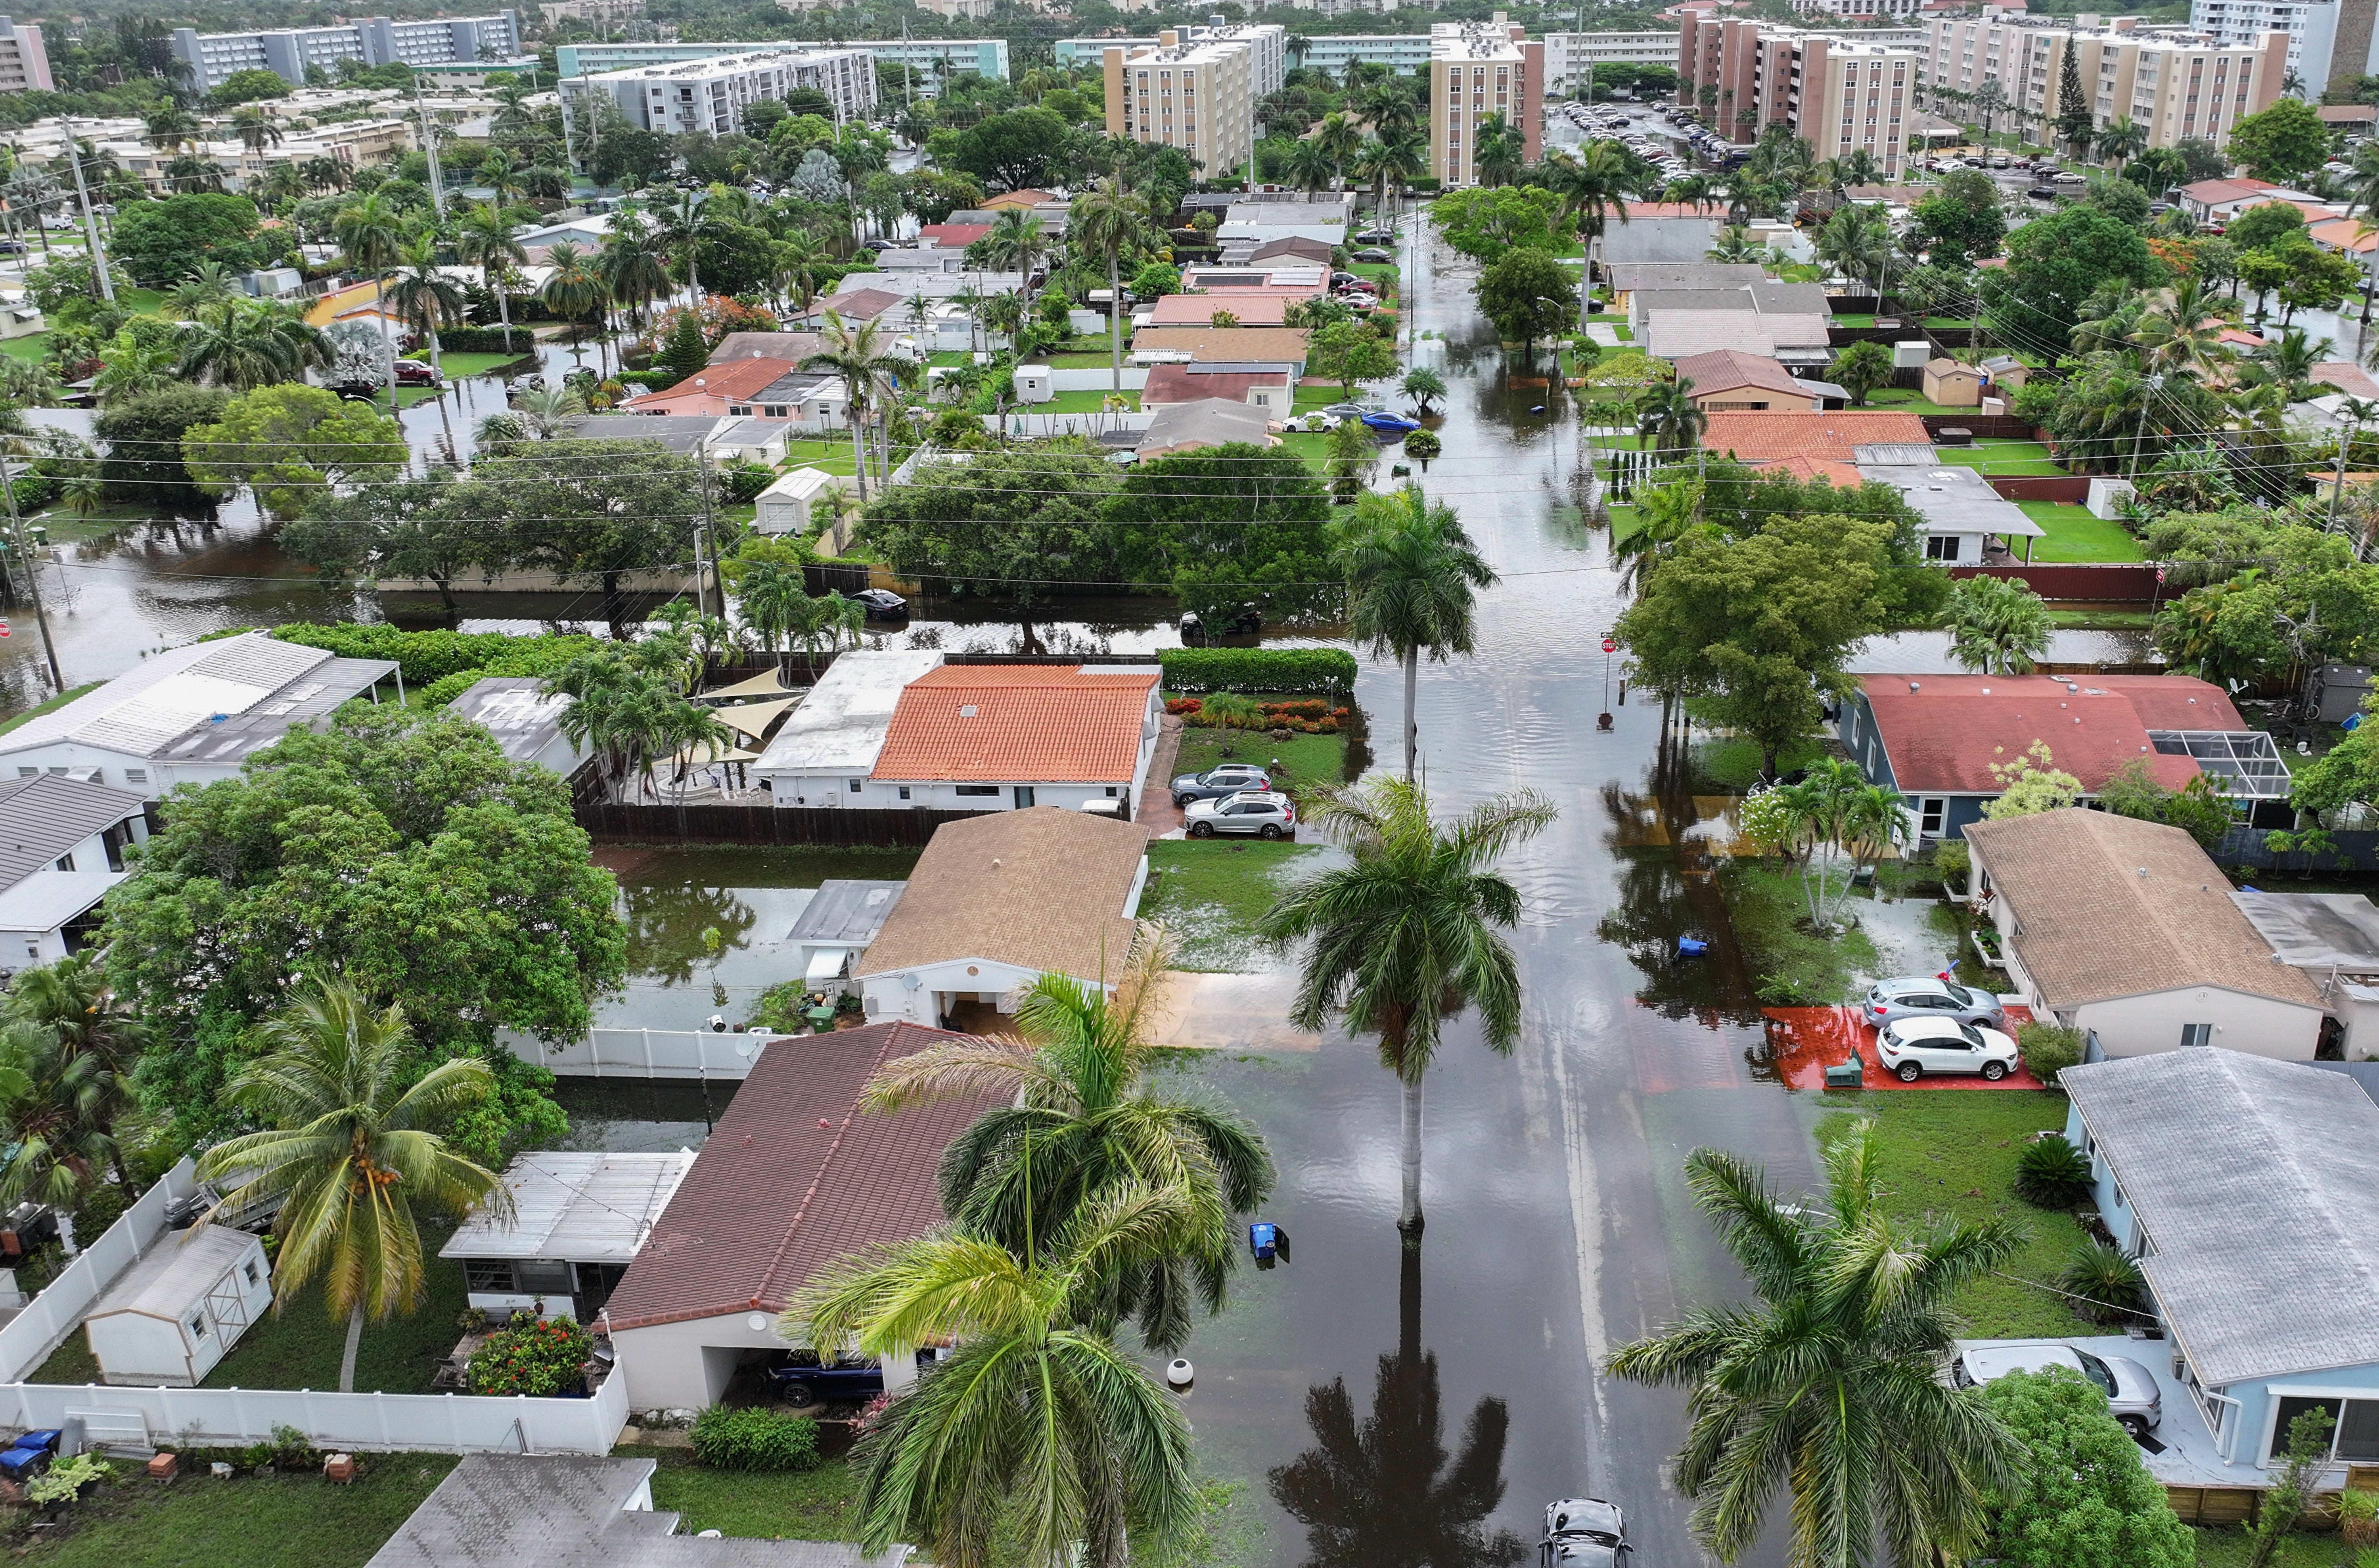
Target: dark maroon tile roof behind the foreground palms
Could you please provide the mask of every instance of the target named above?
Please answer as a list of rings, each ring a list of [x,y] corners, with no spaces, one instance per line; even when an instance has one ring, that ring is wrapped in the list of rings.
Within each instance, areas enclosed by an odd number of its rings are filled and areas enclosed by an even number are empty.
[[[878,1066],[940,1040],[963,1035],[871,1023],[764,1047],[611,1292],[609,1325],[783,1311],[821,1266],[940,1225],[942,1149],[997,1102],[859,1109]]]

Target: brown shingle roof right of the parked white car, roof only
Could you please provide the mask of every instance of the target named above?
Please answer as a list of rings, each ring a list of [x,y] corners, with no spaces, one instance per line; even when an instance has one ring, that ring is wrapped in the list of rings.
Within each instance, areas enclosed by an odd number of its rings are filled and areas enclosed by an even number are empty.
[[[2179,828],[2072,807],[1967,823],[1965,840],[2008,899],[2015,957],[2048,1006],[2189,985],[2322,1004],[2312,980],[2272,959],[2232,904],[2229,878]]]

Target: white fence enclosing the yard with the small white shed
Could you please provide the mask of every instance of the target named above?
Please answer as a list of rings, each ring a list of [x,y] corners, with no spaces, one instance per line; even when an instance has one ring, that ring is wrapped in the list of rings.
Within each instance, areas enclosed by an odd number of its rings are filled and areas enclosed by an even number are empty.
[[[0,1428],[62,1428],[74,1418],[90,1442],[131,1449],[171,1442],[245,1447],[288,1425],[319,1449],[609,1454],[628,1423],[628,1378],[619,1371],[592,1399],[24,1382],[81,1328],[83,1313],[117,1275],[176,1242],[181,1233],[167,1230],[167,1209],[193,1192],[197,1175],[183,1159],[0,1325]]]

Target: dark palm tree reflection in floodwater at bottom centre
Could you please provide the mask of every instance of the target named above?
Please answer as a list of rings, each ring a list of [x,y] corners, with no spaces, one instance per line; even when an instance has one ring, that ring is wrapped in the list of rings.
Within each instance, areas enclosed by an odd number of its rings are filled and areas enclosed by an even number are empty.
[[[1273,1499],[1306,1528],[1306,1568],[1506,1568],[1527,1556],[1511,1530],[1487,1530],[1511,1416],[1480,1399],[1446,1454],[1437,1356],[1420,1349],[1420,1249],[1401,1256],[1396,1351],[1380,1356],[1370,1416],[1356,1418],[1344,1378],[1306,1390],[1313,1447],[1270,1473]]]

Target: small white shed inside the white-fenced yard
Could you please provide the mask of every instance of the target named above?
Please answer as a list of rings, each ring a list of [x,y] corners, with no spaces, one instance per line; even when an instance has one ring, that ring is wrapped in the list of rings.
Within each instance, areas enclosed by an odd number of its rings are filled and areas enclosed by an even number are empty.
[[[102,1382],[197,1387],[274,1299],[264,1237],[231,1225],[167,1235],[83,1318]]]

